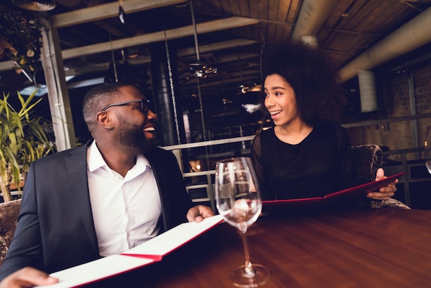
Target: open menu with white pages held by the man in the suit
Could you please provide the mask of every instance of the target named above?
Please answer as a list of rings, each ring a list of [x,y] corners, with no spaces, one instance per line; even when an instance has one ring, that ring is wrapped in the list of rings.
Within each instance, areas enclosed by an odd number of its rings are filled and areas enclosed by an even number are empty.
[[[83,265],[50,274],[58,278],[54,285],[43,288],[82,287],[90,283],[123,274],[162,260],[163,256],[189,243],[209,229],[222,223],[221,215],[204,218],[200,223],[182,223],[120,255],[112,255]]]

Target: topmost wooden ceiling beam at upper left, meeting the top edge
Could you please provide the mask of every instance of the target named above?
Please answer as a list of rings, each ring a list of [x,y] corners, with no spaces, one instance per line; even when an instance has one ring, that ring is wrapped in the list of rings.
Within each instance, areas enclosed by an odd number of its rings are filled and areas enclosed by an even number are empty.
[[[125,13],[139,12],[154,8],[165,7],[177,3],[183,3],[185,0],[127,0],[123,1],[123,10]],[[52,16],[52,25],[56,28],[62,28],[81,23],[93,22],[101,19],[118,17],[118,1],[111,3],[92,6],[65,12]]]

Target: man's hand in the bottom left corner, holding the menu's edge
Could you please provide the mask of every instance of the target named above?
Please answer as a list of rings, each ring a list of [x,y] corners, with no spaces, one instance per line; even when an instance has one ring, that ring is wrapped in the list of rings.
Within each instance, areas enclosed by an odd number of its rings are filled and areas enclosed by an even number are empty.
[[[59,282],[59,279],[48,276],[43,271],[32,267],[25,267],[10,274],[0,283],[0,288],[21,288],[41,285],[51,285]]]

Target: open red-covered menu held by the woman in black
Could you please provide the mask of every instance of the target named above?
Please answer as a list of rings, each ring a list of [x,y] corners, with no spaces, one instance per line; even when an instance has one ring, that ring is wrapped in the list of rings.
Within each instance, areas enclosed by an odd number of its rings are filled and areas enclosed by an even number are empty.
[[[343,199],[354,199],[354,198],[366,198],[368,192],[376,192],[380,187],[384,187],[399,177],[403,176],[406,172],[401,172],[388,176],[387,178],[379,181],[372,181],[365,184],[361,184],[355,187],[344,189],[338,192],[327,194],[321,197],[312,198],[296,198],[287,200],[263,200],[262,201],[262,212],[282,211],[288,209],[302,209],[308,207],[320,207],[337,200]]]

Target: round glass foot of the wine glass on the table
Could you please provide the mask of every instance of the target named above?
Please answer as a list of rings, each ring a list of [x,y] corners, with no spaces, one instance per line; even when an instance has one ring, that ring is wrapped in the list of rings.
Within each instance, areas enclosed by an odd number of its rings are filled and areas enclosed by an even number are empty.
[[[251,276],[246,275],[245,265],[235,269],[231,273],[233,285],[236,287],[257,287],[268,282],[271,276],[268,268],[260,264],[253,264],[251,267],[254,272]]]

